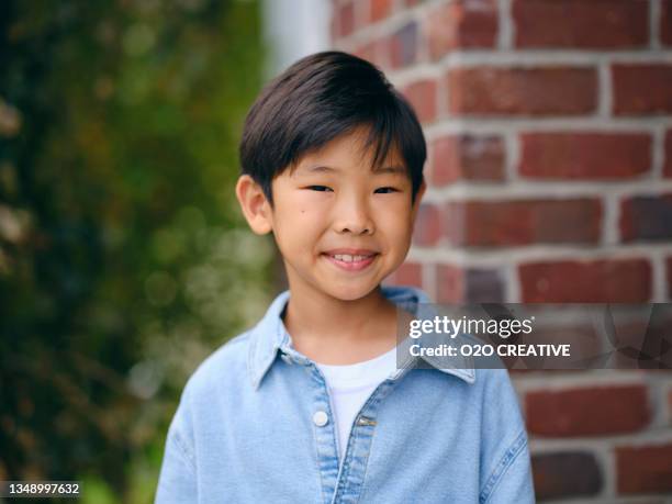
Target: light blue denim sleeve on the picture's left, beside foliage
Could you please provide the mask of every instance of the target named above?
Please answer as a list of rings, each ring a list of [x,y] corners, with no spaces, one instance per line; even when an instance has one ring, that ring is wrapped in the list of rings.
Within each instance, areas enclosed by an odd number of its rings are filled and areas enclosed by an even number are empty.
[[[166,437],[155,504],[188,504],[198,501],[195,457],[190,432],[183,396]]]

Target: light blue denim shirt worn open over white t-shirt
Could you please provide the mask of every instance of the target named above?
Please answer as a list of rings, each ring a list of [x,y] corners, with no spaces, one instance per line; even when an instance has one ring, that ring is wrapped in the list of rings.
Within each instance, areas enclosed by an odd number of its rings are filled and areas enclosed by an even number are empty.
[[[411,313],[432,302],[412,287],[382,292]],[[156,503],[535,502],[505,369],[395,370],[356,416],[339,464],[324,377],[281,318],[289,295],[189,379]]]

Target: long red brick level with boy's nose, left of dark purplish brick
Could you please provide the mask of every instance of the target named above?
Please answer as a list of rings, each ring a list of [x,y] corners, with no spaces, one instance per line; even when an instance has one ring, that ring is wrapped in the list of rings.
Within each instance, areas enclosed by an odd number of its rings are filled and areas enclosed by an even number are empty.
[[[592,198],[451,202],[446,220],[448,238],[457,246],[595,244],[600,240],[602,204]]]

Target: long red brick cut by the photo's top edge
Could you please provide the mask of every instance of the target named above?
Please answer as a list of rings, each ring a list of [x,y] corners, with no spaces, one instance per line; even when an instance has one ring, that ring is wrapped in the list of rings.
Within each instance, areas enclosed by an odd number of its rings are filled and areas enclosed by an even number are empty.
[[[516,0],[518,47],[613,48],[649,42],[647,0]]]

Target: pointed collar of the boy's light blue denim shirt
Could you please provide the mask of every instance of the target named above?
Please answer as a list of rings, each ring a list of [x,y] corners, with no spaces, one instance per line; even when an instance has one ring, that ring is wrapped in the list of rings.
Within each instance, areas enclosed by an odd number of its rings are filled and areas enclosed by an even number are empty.
[[[418,313],[418,303],[430,304],[432,300],[421,289],[411,285],[381,285],[381,291],[385,298],[395,303],[403,310],[413,314]],[[264,318],[251,329],[248,371],[254,389],[258,389],[266,372],[276,360],[278,350],[291,356],[294,360],[307,363],[309,359],[291,347],[291,338],[284,323],[280,317],[290,298],[290,291],[285,290],[278,294],[266,311]],[[475,381],[474,369],[469,363],[459,367],[447,366],[440,359],[421,357],[425,362],[441,372],[453,374],[467,383]],[[394,374],[399,378],[401,371]]]

